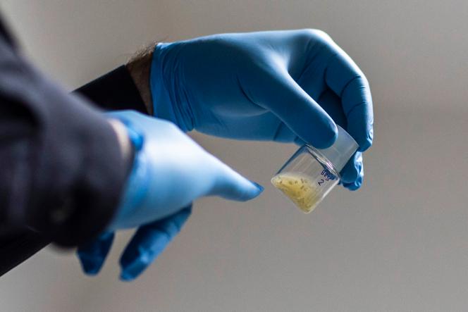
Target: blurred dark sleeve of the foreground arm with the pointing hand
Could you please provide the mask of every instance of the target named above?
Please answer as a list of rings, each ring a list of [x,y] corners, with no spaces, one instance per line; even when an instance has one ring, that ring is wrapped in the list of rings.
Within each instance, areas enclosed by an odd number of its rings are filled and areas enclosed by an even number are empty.
[[[130,163],[111,125],[0,38],[0,228],[75,246],[104,229]]]

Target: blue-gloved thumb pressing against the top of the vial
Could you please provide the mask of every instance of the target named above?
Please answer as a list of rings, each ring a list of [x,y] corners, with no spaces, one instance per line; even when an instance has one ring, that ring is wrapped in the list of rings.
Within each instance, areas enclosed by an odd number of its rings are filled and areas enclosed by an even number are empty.
[[[335,142],[338,130],[330,116],[291,77],[285,68],[274,68],[252,90],[259,106],[269,109],[290,130],[319,149]],[[268,86],[268,87],[266,87]]]

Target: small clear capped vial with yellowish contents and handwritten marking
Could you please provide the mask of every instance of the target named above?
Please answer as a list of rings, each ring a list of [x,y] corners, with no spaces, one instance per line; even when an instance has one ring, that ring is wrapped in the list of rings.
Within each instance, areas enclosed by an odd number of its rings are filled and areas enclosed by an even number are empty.
[[[311,213],[340,181],[340,171],[357,151],[357,143],[342,127],[327,149],[308,144],[295,154],[271,179],[271,183],[304,213]]]

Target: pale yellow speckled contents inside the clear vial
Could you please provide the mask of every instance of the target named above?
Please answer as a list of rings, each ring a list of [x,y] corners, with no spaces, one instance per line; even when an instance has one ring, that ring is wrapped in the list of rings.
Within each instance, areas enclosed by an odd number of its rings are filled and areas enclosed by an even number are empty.
[[[307,177],[293,173],[280,173],[271,179],[271,183],[304,213],[311,213],[319,204],[320,193]]]

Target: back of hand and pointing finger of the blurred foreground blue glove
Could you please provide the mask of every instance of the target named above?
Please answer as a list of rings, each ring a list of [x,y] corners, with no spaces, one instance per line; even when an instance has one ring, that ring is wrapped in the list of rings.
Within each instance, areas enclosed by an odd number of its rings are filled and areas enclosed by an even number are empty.
[[[250,182],[166,120],[135,111],[107,113],[121,120],[137,143],[135,163],[115,218],[118,230],[159,220],[180,211],[201,196],[246,201],[258,196]],[[130,137],[135,135],[130,135]]]

